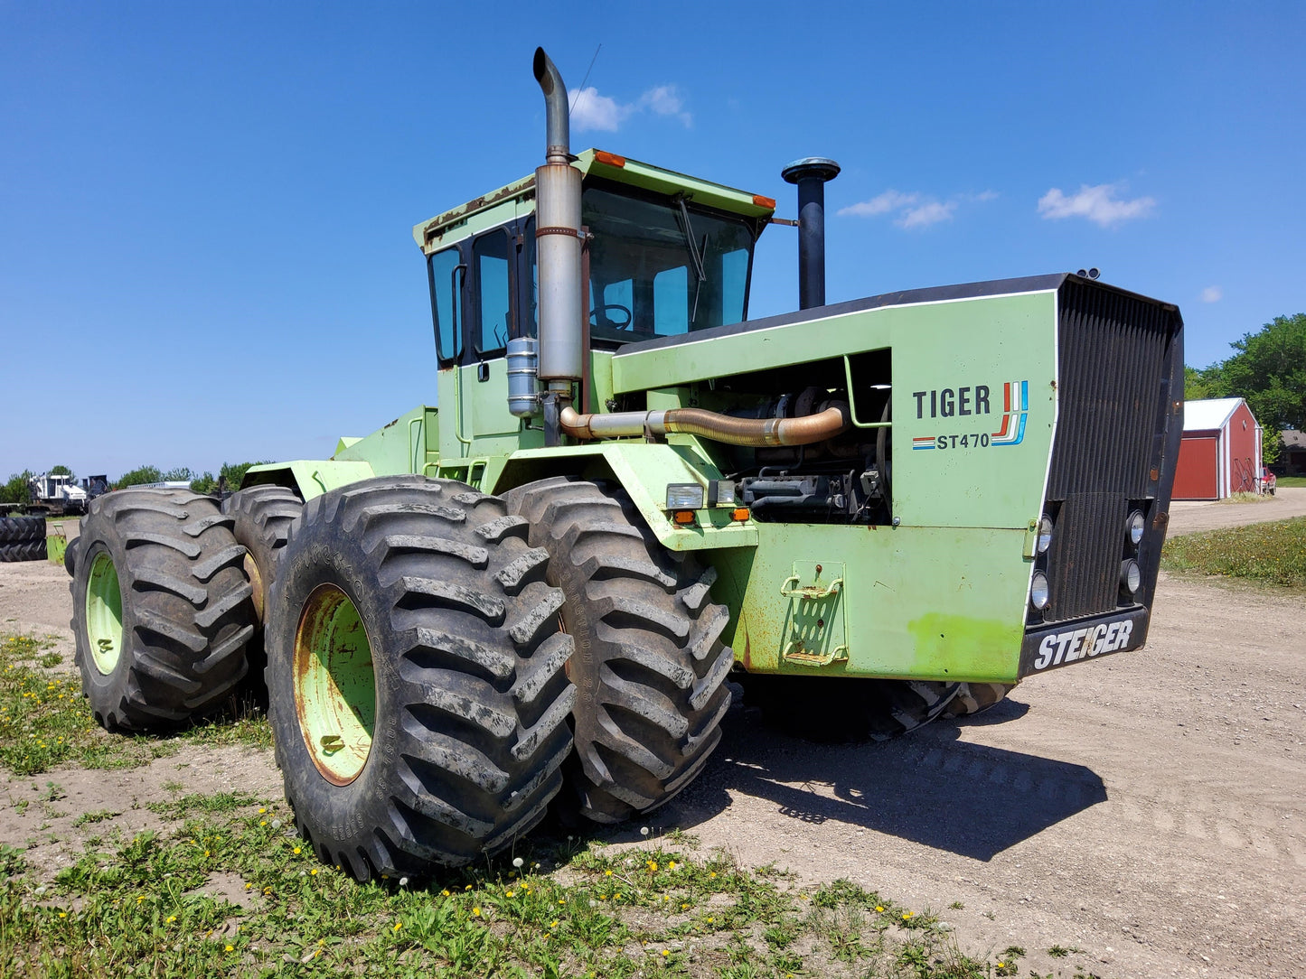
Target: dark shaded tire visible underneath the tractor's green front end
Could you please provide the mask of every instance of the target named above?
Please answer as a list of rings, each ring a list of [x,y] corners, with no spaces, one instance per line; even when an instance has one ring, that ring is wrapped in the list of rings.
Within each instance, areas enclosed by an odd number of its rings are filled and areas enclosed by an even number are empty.
[[[844,676],[743,679],[744,702],[761,707],[768,724],[825,743],[883,741],[914,731],[940,717],[960,685]]]

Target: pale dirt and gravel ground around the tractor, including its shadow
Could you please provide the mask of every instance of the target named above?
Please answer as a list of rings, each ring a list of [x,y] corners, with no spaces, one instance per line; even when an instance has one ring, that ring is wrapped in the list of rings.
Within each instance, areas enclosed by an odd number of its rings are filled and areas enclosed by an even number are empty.
[[[1179,504],[1171,533],[1303,512],[1306,489]],[[54,634],[68,653],[68,603],[61,568],[0,565],[0,628]],[[814,747],[737,705],[704,775],[648,822],[747,865],[929,906],[963,949],[1024,945],[1043,975],[1302,976],[1303,624],[1299,595],[1162,576],[1145,649],[1040,676],[969,723]],[[68,794],[46,830],[60,839],[86,811],[150,825],[131,807],[165,781],[279,791],[270,753],[183,748],[133,771],[12,779],[0,842],[50,822],[42,805],[13,805],[47,779]],[[1053,945],[1077,952],[1051,958]]]

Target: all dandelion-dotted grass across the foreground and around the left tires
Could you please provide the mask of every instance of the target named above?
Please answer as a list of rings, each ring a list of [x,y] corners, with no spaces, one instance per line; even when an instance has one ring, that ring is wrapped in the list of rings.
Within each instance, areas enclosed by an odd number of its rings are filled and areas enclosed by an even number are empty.
[[[0,766],[13,775],[123,768],[196,741],[268,747],[257,715],[168,738],[106,735],[76,676],[51,672],[48,646],[0,637]],[[40,779],[20,815],[67,807],[59,778]],[[358,884],[317,859],[279,799],[163,791],[145,804],[157,830],[124,833],[123,813],[101,808],[71,821],[57,860],[43,837],[27,841],[40,851],[0,845],[0,974],[991,979],[1016,975],[1024,956],[973,954],[929,909],[848,880],[812,888],[743,868],[678,830],[637,847],[534,833],[434,880]]]

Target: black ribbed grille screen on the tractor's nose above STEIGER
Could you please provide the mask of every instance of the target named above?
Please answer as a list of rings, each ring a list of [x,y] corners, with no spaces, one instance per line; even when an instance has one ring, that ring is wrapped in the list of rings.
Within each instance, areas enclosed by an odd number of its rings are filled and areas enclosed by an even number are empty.
[[[1117,608],[1130,501],[1157,496],[1179,328],[1173,309],[1076,279],[1062,286],[1059,302],[1047,480],[1047,499],[1059,505],[1047,555],[1051,621]]]

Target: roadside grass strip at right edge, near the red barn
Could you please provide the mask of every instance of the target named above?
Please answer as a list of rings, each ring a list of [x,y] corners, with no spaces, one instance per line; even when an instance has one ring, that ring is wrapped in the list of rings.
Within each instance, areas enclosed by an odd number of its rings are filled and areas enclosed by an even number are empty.
[[[1170,538],[1161,565],[1306,590],[1306,517]]]

